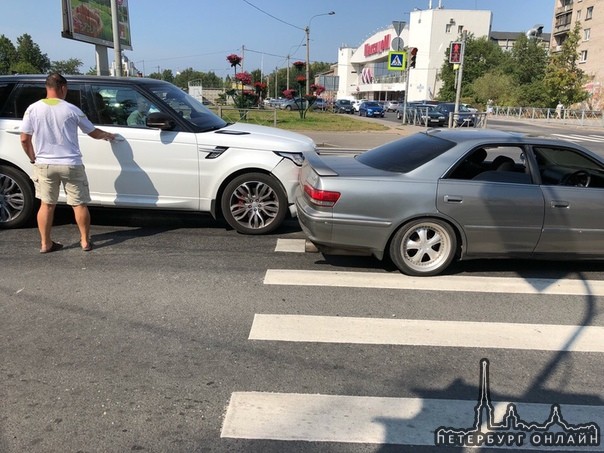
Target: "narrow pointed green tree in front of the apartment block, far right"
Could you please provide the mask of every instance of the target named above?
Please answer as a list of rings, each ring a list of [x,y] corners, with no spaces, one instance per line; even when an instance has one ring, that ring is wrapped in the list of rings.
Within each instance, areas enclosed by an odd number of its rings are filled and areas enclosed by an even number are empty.
[[[562,43],[560,52],[555,52],[550,57],[544,78],[550,107],[554,107],[558,102],[570,106],[588,97],[588,93],[583,88],[587,78],[577,65],[580,39],[581,23],[577,22],[573,31]]]

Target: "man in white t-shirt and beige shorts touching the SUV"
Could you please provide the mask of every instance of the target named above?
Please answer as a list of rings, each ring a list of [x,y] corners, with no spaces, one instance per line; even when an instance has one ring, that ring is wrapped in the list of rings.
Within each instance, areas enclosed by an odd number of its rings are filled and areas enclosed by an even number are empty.
[[[65,101],[66,96],[65,77],[50,74],[46,78],[46,98],[27,108],[21,126],[21,145],[34,164],[36,198],[41,201],[38,211],[40,253],[63,248],[50,235],[61,184],[67,194],[67,204],[73,207],[82,250],[92,250],[87,206],[90,192],[78,143],[78,127],[97,140],[115,138],[114,134],[95,128],[78,107]]]

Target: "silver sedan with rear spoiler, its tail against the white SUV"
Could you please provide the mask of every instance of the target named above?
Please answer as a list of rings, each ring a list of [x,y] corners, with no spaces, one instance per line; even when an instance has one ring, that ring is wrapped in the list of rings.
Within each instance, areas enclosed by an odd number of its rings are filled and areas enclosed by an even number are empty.
[[[320,251],[390,257],[405,274],[454,259],[603,259],[604,159],[488,129],[431,129],[356,156],[308,153],[298,219]]]

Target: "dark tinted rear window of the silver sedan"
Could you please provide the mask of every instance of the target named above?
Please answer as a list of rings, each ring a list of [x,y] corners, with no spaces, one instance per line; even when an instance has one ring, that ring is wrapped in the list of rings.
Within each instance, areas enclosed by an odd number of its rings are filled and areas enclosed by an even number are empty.
[[[407,173],[430,162],[454,146],[455,143],[449,140],[419,133],[386,143],[359,154],[356,158],[369,167]]]

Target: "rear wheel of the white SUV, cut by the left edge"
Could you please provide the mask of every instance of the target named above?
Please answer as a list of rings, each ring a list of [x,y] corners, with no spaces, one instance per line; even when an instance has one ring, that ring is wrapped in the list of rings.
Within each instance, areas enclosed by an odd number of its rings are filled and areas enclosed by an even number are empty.
[[[29,176],[16,168],[0,165],[0,228],[28,225],[36,206]]]

